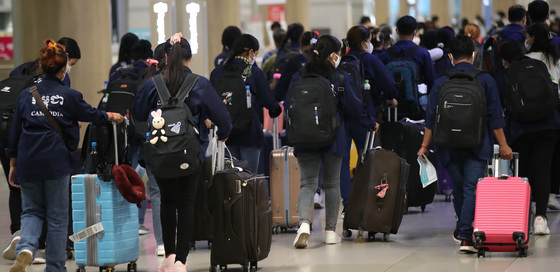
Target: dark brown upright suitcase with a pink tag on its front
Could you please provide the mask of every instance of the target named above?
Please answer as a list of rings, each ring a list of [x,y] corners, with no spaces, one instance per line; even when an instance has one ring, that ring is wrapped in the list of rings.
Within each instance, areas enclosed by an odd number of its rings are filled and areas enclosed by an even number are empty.
[[[351,237],[350,229],[357,229],[358,237],[368,231],[368,238],[399,230],[406,209],[406,183],[410,166],[397,153],[381,148],[373,149],[375,133],[368,132],[346,204],[343,236]]]

